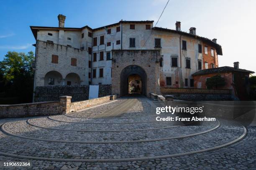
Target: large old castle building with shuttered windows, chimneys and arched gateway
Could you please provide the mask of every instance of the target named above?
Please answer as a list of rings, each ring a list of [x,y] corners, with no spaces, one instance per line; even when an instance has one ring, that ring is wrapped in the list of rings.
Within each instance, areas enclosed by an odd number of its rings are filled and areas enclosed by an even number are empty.
[[[192,74],[218,67],[216,39],[154,27],[154,21],[125,21],[100,28],[31,26],[36,39],[34,87],[112,85],[112,93],[158,93],[160,87],[194,88]],[[197,88],[200,88],[197,85]]]

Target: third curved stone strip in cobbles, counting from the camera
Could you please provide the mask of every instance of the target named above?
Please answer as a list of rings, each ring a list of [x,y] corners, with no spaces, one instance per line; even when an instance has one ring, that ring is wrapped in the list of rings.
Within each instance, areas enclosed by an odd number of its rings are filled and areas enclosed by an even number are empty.
[[[72,129],[58,129],[58,128],[48,128],[48,127],[43,127],[39,125],[35,125],[30,122],[31,119],[27,120],[28,125],[37,127],[37,128],[44,128],[44,129],[49,129],[49,130],[63,130],[63,131],[75,131],[75,132],[135,132],[135,131],[145,131],[145,130],[158,130],[158,129],[169,129],[169,128],[176,128],[180,127],[182,125],[177,125],[177,126],[167,126],[163,128],[148,128],[148,129],[133,129],[133,130],[72,130]]]

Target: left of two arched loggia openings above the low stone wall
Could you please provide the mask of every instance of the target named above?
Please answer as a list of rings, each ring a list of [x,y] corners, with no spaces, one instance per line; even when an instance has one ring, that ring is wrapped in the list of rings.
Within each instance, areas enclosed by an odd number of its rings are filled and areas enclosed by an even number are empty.
[[[49,71],[44,76],[44,86],[63,85],[62,75],[57,71]]]

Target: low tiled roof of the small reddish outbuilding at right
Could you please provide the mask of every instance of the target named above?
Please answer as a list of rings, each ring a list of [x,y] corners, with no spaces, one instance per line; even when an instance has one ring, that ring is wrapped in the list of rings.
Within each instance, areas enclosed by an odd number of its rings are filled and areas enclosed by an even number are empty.
[[[219,73],[219,72],[248,72],[248,73],[254,73],[253,71],[250,70],[245,70],[245,69],[236,69],[234,67],[216,67],[216,68],[209,68],[205,70],[200,70],[198,72],[195,72],[192,75],[205,75],[205,74],[212,74],[212,73]]]

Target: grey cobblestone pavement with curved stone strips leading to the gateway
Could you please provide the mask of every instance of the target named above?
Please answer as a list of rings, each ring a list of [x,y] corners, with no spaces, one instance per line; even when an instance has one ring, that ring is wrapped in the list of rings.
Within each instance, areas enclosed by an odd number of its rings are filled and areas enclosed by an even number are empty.
[[[256,170],[254,126],[246,134],[230,120],[158,122],[170,116],[155,114],[161,103],[131,98],[68,115],[1,119],[0,160],[31,167],[0,169]],[[128,100],[136,102],[118,112]]]

